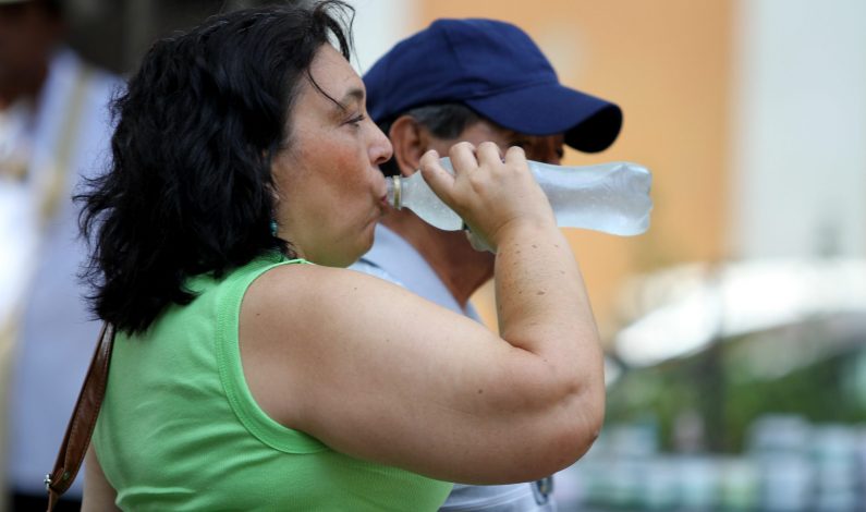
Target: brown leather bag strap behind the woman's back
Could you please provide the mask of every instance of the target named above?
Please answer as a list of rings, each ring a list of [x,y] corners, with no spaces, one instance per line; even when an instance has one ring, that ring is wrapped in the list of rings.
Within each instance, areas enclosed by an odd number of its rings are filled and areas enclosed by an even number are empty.
[[[109,324],[102,324],[96,352],[90,361],[90,368],[84,378],[78,401],[75,402],[75,409],[72,411],[72,417],[66,426],[66,435],[63,436],[63,442],[57,454],[54,470],[45,477],[49,512],[57,505],[60,496],[75,480],[82,461],[84,461],[84,454],[87,452],[90,436],[93,436],[96,426],[96,418],[99,416],[99,407],[102,406],[102,399],[106,395],[108,365],[111,362],[113,344],[114,328]]]

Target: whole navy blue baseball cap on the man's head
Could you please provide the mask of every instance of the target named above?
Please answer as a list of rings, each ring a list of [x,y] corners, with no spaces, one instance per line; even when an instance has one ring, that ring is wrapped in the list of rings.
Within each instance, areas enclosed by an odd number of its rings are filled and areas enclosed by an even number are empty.
[[[437,20],[379,59],[364,75],[377,123],[422,106],[460,102],[528,135],[563,133],[586,153],[610,146],[622,110],[559,83],[526,33],[495,20]]]

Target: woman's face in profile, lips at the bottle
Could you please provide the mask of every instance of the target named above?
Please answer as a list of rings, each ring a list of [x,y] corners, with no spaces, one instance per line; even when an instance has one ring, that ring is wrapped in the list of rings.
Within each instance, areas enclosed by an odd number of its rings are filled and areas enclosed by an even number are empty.
[[[386,211],[378,166],[391,143],[367,117],[364,83],[343,56],[324,45],[309,71],[339,105],[308,82],[300,86],[289,147],[272,167],[279,234],[301,257],[345,267],[373,245]]]

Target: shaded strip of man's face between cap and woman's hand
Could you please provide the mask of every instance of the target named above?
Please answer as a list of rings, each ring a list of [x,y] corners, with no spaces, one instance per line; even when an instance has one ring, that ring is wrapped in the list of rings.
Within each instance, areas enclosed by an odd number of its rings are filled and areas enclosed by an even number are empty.
[[[562,160],[564,144],[562,134],[526,135],[480,120],[467,126],[454,139],[434,137],[428,149],[436,149],[439,155],[448,155],[451,146],[463,141],[476,146],[483,142],[490,141],[496,143],[502,153],[511,146],[520,146],[526,153],[527,159],[554,164],[559,164]]]

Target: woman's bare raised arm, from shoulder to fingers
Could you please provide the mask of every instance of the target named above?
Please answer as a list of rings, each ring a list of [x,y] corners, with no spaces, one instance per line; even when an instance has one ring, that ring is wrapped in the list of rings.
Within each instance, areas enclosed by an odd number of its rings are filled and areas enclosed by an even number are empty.
[[[603,376],[580,270],[525,163],[490,151],[452,181],[430,159],[423,169],[498,247],[501,338],[358,272],[276,268],[248,290],[240,333],[247,382],[275,419],[451,481],[525,481],[589,448]],[[451,156],[455,168],[475,160]]]

